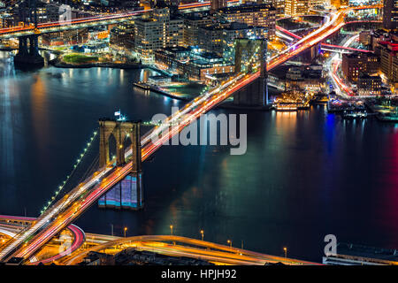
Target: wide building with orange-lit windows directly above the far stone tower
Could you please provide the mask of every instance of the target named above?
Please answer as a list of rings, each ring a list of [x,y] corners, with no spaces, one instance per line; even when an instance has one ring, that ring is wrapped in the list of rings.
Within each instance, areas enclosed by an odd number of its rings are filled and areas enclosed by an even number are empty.
[[[218,11],[221,20],[245,23],[252,27],[265,27],[268,40],[275,38],[276,10],[271,4],[244,4]]]

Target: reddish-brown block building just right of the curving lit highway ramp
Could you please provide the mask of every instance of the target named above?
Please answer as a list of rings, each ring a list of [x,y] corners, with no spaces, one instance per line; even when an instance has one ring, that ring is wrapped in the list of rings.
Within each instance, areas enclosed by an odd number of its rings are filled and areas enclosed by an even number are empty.
[[[372,53],[354,52],[343,54],[341,71],[344,78],[356,81],[361,73],[377,73],[379,71],[379,57]]]

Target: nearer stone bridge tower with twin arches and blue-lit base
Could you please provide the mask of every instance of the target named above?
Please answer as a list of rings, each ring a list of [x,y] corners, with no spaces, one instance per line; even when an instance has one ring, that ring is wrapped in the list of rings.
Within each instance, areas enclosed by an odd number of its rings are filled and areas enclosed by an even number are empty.
[[[140,210],[143,207],[142,156],[141,156],[141,122],[100,119],[99,167],[111,164],[110,138],[116,141],[116,165],[122,166],[132,162],[132,170],[124,180],[111,188],[99,201],[101,208]],[[125,159],[126,139],[131,142],[131,159]]]

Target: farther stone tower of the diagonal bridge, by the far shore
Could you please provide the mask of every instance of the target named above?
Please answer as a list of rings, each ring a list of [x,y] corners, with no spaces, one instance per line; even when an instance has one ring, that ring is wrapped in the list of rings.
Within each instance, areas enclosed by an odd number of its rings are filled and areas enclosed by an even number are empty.
[[[235,73],[253,72],[260,63],[260,77],[233,94],[233,103],[247,106],[264,106],[268,102],[267,42],[264,39],[239,38],[235,40]],[[246,68],[246,70],[243,70]]]

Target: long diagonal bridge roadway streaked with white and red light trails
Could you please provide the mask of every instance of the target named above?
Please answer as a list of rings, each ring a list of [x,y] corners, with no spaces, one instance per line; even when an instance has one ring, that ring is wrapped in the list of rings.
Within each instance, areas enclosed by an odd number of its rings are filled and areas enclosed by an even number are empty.
[[[369,9],[374,6],[363,6],[361,9]],[[321,42],[330,36],[342,26],[344,26],[344,17],[351,9],[346,8],[333,14],[322,27],[304,36],[300,41],[295,42],[292,46],[280,52],[279,56],[272,57],[267,66],[267,70],[286,62],[288,59],[295,57],[303,50]],[[210,111],[218,103],[224,101],[227,97],[240,88],[248,85],[256,80],[260,72],[243,74],[238,73],[226,80],[220,86],[212,88],[210,91],[198,96],[194,101],[188,103],[181,111],[173,113],[167,121],[177,122],[180,124],[172,126],[169,134],[162,135],[158,138],[158,134],[165,130],[165,125],[157,126],[149,134],[142,137],[142,161],[146,160],[154,153],[164,142],[167,142],[173,135],[190,124],[201,114]],[[156,142],[151,142],[153,140]],[[131,156],[131,149],[126,150],[126,160]],[[21,233],[16,235],[4,245],[4,249],[0,251],[0,260],[8,260],[11,257],[18,256],[29,258],[40,249],[47,241],[60,232],[65,226],[68,226],[74,219],[78,218],[90,205],[106,193],[108,189],[123,180],[130,172],[132,163],[129,162],[122,167],[106,166],[95,172],[87,180],[83,181],[78,187],[65,195],[63,198],[53,204],[49,210],[46,210],[39,218],[37,218],[32,226],[27,227]]]

